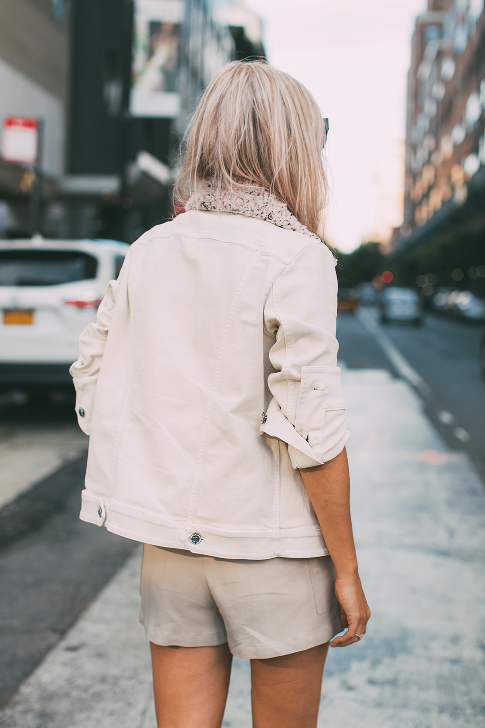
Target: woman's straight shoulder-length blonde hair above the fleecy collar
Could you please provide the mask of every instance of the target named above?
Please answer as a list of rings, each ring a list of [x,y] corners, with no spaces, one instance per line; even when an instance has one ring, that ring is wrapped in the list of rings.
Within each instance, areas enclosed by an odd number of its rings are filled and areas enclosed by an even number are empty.
[[[232,61],[193,114],[175,199],[185,204],[201,181],[216,189],[257,186],[323,237],[323,141],[320,111],[300,82],[262,61]]]

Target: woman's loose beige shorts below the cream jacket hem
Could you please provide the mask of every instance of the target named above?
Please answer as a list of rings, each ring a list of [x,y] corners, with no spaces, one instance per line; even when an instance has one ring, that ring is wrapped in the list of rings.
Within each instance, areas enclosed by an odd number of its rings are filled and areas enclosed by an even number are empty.
[[[140,622],[155,644],[278,657],[342,630],[334,580],[329,556],[248,561],[145,544]]]

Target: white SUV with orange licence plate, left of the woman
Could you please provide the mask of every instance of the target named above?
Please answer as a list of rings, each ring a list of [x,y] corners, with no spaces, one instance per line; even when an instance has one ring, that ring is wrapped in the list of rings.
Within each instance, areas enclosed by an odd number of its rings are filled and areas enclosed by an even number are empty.
[[[114,240],[0,241],[0,390],[72,388],[79,336],[127,250]]]

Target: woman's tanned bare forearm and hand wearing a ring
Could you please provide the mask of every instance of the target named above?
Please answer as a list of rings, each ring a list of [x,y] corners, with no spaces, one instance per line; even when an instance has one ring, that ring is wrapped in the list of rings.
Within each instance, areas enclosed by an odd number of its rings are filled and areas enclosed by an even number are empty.
[[[330,646],[345,647],[358,641],[356,634],[365,633],[370,617],[353,544],[347,452],[344,448],[329,462],[300,472],[334,563],[340,619],[348,628],[345,634],[334,638]]]

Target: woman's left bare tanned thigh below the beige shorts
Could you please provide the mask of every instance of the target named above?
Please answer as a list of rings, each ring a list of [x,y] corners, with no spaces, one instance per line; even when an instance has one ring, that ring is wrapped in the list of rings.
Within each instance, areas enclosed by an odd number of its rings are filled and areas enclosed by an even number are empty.
[[[150,646],[157,727],[220,728],[233,659],[228,644]]]

